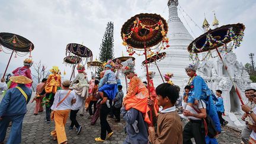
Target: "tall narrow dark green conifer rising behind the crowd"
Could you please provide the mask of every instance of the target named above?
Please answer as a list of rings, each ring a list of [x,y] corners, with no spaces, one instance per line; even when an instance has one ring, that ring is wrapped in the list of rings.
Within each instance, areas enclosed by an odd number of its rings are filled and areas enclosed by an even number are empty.
[[[102,43],[100,45],[100,56],[101,62],[107,62],[107,60],[113,59],[114,57],[114,23],[108,22],[103,36]],[[98,68],[97,76],[100,76],[100,72],[103,68]]]

